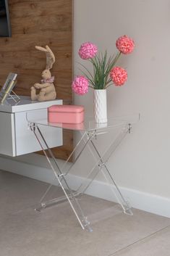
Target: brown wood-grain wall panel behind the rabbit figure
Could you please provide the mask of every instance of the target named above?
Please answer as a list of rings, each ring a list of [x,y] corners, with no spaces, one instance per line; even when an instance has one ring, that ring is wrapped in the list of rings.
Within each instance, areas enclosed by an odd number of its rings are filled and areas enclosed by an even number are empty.
[[[12,38],[0,38],[0,85],[9,72],[17,73],[15,92],[30,96],[30,87],[40,82],[46,55],[35,45],[48,45],[56,62],[51,70],[58,99],[72,104],[72,0],[9,0]],[[64,131],[64,146],[53,149],[66,159],[72,151],[73,134]]]

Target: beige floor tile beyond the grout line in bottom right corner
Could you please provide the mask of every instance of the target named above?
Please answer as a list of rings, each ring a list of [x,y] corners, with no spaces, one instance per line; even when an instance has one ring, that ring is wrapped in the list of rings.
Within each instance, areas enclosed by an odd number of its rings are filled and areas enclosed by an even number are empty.
[[[112,254],[113,256],[169,256],[170,226]]]

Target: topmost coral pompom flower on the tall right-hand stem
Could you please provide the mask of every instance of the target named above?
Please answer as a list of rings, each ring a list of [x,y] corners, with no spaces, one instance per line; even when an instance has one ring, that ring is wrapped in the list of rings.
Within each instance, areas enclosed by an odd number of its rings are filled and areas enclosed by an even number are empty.
[[[122,54],[130,54],[135,48],[135,42],[128,36],[121,36],[116,41],[116,47]]]

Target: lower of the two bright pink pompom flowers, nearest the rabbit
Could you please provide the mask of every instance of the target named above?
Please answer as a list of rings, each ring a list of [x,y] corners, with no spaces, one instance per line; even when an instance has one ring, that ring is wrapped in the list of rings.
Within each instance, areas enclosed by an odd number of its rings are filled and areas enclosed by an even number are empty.
[[[84,95],[88,92],[88,79],[85,76],[80,75],[75,78],[72,82],[72,90],[75,91],[75,94]]]

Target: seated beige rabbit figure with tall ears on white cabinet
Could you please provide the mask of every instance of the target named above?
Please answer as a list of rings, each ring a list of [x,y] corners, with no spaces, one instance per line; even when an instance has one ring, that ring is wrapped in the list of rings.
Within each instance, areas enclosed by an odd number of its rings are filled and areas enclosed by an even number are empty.
[[[55,57],[51,49],[46,46],[43,48],[41,46],[35,46],[36,49],[46,52],[46,70],[41,73],[41,83],[35,83],[34,86],[30,88],[31,99],[43,102],[50,99],[56,99],[56,89],[54,87],[54,76],[51,76],[51,68],[54,65]],[[36,94],[36,89],[40,89],[39,94]]]

